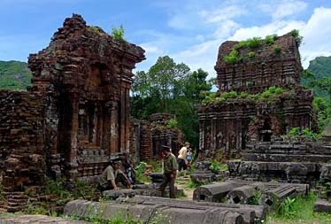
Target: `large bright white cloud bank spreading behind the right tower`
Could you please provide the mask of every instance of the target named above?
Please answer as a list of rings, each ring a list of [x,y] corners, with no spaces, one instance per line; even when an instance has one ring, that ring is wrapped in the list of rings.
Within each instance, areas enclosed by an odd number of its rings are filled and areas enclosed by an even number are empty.
[[[288,10],[285,10],[286,7]],[[155,40],[142,43],[142,47],[145,47],[148,52],[149,66],[145,66],[146,70],[156,62],[159,56],[168,54],[176,63],[183,62],[192,70],[201,67],[210,73],[209,77],[214,77],[216,72],[213,67],[216,64],[219,45],[222,42],[226,40],[242,41],[254,36],[265,38],[266,35],[272,34],[284,35],[293,29],[298,29],[300,34],[304,36],[300,52],[303,66],[307,67],[309,60],[321,55],[331,55],[331,38],[329,38],[331,36],[331,27],[329,26],[331,8],[317,8],[313,11],[311,18],[305,21],[293,18],[285,19],[302,12],[305,7],[306,4],[301,1],[282,1],[273,11],[270,11],[273,20],[250,27],[244,27],[243,23],[235,19],[245,13],[240,7],[227,8],[230,9],[228,12],[220,10],[199,11],[199,16],[204,19],[205,26],[210,26],[208,33],[199,34],[196,32],[195,35],[191,36],[191,40],[194,41],[185,46],[183,46],[183,42],[189,40],[188,36],[177,39],[178,37],[164,34],[155,36]],[[283,9],[282,12],[280,12],[281,9]],[[276,12],[279,14],[276,15]],[[225,14],[228,17],[224,16]],[[189,26],[194,27],[192,24],[193,21]],[[163,55],[160,55],[159,52],[162,52]]]

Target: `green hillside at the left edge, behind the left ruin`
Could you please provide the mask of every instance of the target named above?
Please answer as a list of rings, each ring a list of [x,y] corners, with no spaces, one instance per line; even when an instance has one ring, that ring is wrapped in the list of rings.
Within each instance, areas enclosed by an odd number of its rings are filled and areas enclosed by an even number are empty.
[[[0,89],[27,89],[31,77],[26,62],[0,61]]]

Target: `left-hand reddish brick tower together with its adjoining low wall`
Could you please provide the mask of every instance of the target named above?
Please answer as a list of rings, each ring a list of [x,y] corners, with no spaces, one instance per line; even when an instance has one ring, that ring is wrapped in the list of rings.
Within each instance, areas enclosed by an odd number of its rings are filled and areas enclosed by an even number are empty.
[[[28,91],[1,91],[4,186],[42,185],[47,171],[70,180],[101,174],[129,149],[129,89],[144,50],[116,40],[80,15],[31,54]]]

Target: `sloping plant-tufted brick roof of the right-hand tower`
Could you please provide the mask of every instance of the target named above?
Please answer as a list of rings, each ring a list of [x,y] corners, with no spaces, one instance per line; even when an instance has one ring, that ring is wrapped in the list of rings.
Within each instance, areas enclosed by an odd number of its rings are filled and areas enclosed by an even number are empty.
[[[273,44],[267,44],[266,40],[262,40],[257,48],[243,47],[238,49],[238,58],[247,56],[249,52],[254,52],[255,56],[251,58],[246,57],[244,60],[239,59],[234,64],[229,65],[225,63],[224,56],[229,55],[229,53],[235,49],[235,44],[237,43],[239,42],[227,41],[219,46],[219,55],[215,66],[217,72],[222,68],[237,66],[240,64],[253,64],[279,60],[296,60],[296,62],[301,65],[296,39],[290,33],[277,37]],[[275,53],[275,46],[279,46],[279,54]]]

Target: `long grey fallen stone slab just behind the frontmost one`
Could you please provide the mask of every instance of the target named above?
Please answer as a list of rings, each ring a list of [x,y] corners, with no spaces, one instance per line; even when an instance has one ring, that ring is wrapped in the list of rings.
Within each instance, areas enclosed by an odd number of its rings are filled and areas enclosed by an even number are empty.
[[[244,223],[254,223],[255,220],[265,220],[266,209],[264,206],[257,205],[227,205],[220,203],[208,203],[208,202],[196,202],[189,200],[174,200],[171,198],[162,197],[142,197],[135,196],[132,198],[119,197],[117,202],[120,204],[129,205],[165,205],[175,206],[181,208],[192,208],[192,209],[208,209],[208,207],[216,207],[220,210],[238,212],[242,214]]]

